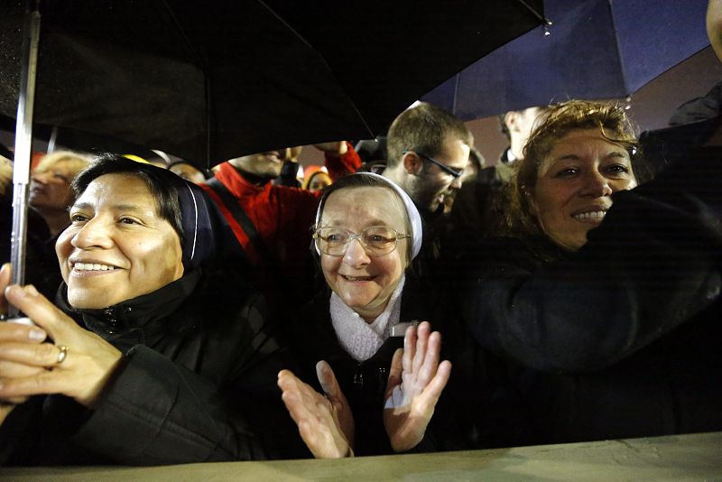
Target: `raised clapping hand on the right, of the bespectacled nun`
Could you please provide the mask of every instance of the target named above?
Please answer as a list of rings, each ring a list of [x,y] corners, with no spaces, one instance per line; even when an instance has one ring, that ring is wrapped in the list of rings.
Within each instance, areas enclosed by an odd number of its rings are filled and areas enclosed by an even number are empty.
[[[410,327],[396,350],[386,385],[384,426],[393,450],[412,450],[423,439],[434,407],[451,374],[451,363],[439,363],[441,335],[427,321]]]

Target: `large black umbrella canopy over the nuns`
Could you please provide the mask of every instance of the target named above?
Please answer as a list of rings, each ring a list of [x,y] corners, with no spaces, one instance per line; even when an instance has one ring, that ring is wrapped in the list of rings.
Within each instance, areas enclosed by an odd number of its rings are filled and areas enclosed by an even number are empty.
[[[15,116],[24,2],[0,6]],[[63,0],[42,4],[34,119],[208,165],[373,137],[539,24],[541,0]]]

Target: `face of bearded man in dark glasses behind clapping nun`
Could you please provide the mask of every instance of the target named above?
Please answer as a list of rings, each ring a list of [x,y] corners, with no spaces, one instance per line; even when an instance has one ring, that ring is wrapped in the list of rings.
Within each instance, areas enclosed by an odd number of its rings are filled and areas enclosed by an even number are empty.
[[[460,139],[448,137],[441,145],[440,153],[434,156],[434,161],[461,171],[467,166],[468,153],[467,144]],[[410,179],[409,195],[418,206],[433,212],[439,208],[446,196],[461,187],[461,180],[421,156],[420,160],[423,165],[419,174]]]

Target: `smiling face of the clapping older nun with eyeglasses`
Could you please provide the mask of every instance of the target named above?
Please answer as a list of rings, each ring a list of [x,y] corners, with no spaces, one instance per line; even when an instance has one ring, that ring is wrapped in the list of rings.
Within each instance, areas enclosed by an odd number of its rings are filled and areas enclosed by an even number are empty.
[[[408,234],[401,201],[392,190],[380,187],[348,188],[329,195],[320,226],[343,227],[360,233],[366,227],[391,227]],[[321,254],[321,269],[338,297],[367,322],[386,308],[401,281],[407,261],[407,239],[400,239],[391,253],[369,256],[357,239],[340,256]]]

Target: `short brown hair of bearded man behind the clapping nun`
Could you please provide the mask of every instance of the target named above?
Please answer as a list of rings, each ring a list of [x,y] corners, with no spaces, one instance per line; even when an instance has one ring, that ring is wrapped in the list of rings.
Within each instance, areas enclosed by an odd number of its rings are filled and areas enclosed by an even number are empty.
[[[469,147],[474,145],[471,131],[449,111],[425,102],[406,109],[389,128],[386,164],[391,167],[398,165],[404,150],[415,150],[431,157],[439,155],[449,136]]]

